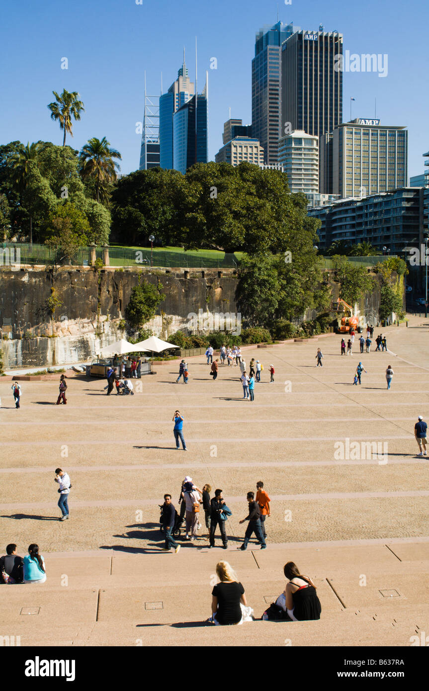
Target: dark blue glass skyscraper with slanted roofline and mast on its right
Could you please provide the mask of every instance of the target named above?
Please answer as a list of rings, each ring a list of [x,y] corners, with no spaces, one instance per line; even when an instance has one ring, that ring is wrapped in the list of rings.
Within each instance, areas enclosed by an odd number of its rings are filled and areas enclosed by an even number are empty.
[[[173,115],[173,168],[181,173],[194,163],[207,163],[209,74],[201,94],[193,96]]]

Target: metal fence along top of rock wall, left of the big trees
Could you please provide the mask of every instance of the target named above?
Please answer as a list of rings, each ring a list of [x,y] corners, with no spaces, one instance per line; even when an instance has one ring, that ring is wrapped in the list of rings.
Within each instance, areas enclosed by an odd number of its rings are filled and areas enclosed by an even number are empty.
[[[108,253],[108,255],[107,255]],[[108,262],[106,261],[108,256]],[[201,252],[171,252],[162,249],[133,249],[131,247],[79,247],[66,254],[64,250],[30,243],[1,243],[1,265],[90,266],[93,259],[101,259],[111,267],[152,266],[189,269],[236,269],[239,258],[235,254],[218,252],[211,256]]]

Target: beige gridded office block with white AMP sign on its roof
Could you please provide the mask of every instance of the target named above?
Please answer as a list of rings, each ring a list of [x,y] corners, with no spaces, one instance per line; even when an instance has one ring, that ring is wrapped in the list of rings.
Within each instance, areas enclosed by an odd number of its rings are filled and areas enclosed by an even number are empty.
[[[356,117],[334,129],[332,191],[341,198],[406,187],[408,132],[403,126],[379,123]]]

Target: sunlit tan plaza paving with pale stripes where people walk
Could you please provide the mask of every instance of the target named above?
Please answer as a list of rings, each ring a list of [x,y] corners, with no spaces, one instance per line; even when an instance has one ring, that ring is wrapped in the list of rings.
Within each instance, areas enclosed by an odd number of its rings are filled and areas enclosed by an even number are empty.
[[[429,457],[416,456],[414,440],[417,416],[428,417],[428,326],[411,317],[409,328],[383,329],[390,352],[361,355],[355,341],[352,358],[341,357],[334,334],[245,348],[247,364],[264,364],[253,402],[242,399],[237,368],[221,366],[212,381],[202,357],[189,359],[187,386],[174,383],[178,363],[155,363],[133,397],[106,397],[104,380],[70,372],[67,406],[55,406],[58,383],[49,379],[23,381],[15,410],[10,379],[1,379],[1,553],[8,542],[22,555],[37,542],[48,580],[0,589],[0,634],[21,635],[21,645],[164,645],[173,626],[182,628],[178,645],[410,645],[429,632]],[[368,374],[356,387],[359,359]],[[175,450],[176,408],[186,453]],[[346,453],[346,439],[359,453]],[[367,442],[380,442],[376,457]],[[57,466],[73,484],[66,522],[57,520]],[[208,550],[205,528],[177,555],[160,551],[158,504],[170,492],[178,506],[184,475],[211,484],[212,494],[223,490],[233,512],[228,551]],[[268,549],[253,542],[244,554],[239,520],[258,480],[271,497]],[[200,627],[220,559],[238,571],[256,616],[283,590],[283,565],[294,560],[318,585],[321,620],[221,634]]]

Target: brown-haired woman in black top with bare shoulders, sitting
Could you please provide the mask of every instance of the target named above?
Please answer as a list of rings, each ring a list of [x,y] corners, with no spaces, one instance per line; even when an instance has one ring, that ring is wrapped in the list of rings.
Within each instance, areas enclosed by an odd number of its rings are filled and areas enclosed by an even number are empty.
[[[322,608],[312,579],[301,576],[294,562],[287,562],[283,572],[289,580],[285,587],[285,598],[287,614],[292,621],[320,619]]]

